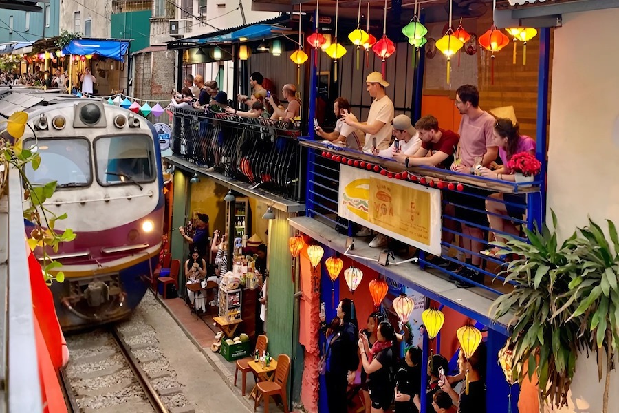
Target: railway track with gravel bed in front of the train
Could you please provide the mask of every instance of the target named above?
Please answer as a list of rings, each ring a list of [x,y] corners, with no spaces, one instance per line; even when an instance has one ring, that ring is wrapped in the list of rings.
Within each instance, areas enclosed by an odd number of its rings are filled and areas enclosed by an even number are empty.
[[[67,337],[71,361],[61,376],[67,405],[74,413],[174,411],[164,400],[171,394],[167,391],[171,386],[160,381],[165,374],[156,367],[158,352],[150,344],[132,346],[131,339],[138,335],[126,336],[120,328],[110,326]],[[155,357],[149,358],[149,352]],[[148,363],[155,363],[155,368],[144,368]]]

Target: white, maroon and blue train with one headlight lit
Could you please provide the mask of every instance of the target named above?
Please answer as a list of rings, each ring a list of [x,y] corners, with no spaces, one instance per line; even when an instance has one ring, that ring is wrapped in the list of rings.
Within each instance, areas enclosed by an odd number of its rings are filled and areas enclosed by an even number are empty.
[[[43,206],[54,231],[72,229],[72,242],[47,251],[65,280],[50,285],[61,327],[81,330],[119,321],[151,285],[162,248],[163,178],[158,134],[142,116],[98,98],[12,90],[0,114],[28,113],[23,147],[38,151],[28,165],[34,186],[56,181]],[[26,222],[26,231],[33,224]],[[34,255],[43,261],[41,247]]]

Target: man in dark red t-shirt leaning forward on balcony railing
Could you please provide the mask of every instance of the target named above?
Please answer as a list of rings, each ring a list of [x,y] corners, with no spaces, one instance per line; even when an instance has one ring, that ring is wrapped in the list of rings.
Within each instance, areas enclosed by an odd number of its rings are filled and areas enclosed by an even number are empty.
[[[453,153],[458,146],[460,136],[453,131],[439,128],[437,118],[432,115],[426,115],[417,120],[415,129],[419,132],[422,147],[417,149],[412,158],[409,158],[409,165],[411,167],[448,168],[453,162]]]

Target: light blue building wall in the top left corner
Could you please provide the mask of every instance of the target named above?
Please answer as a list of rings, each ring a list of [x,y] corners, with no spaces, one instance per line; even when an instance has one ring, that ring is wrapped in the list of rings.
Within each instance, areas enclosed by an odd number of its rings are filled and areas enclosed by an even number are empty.
[[[25,42],[37,41],[58,36],[60,30],[60,2],[50,0],[49,3],[39,3],[43,7],[41,12],[30,12],[30,26],[25,27],[26,13],[21,10],[0,9],[0,43],[10,41]],[[45,7],[50,8],[50,25],[45,27]],[[13,32],[9,33],[10,17],[13,17]]]

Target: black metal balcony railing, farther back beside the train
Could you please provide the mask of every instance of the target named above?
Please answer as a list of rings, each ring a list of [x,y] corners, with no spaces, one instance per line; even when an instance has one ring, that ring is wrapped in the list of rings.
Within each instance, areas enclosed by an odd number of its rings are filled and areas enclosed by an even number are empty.
[[[175,158],[221,181],[235,180],[248,191],[259,191],[262,198],[303,202],[305,162],[298,123],[171,110]]]

